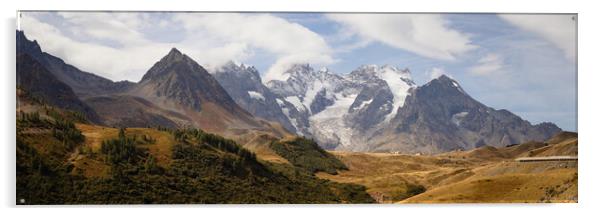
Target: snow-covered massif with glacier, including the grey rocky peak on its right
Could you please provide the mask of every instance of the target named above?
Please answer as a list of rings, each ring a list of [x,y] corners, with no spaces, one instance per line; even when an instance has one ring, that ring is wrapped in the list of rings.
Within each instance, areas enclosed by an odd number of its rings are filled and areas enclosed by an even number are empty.
[[[287,80],[267,87],[304,113],[289,117],[304,127],[298,133],[328,149],[439,153],[542,141],[561,131],[487,107],[445,75],[417,86],[408,69],[389,65],[338,75],[302,64],[285,73]]]

